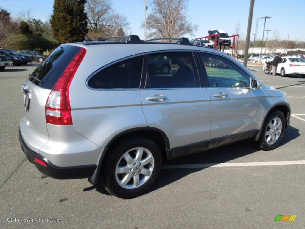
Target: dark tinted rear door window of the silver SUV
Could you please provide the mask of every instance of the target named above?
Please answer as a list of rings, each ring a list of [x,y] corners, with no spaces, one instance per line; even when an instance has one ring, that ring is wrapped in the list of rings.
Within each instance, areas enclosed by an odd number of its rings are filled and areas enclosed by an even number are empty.
[[[199,87],[192,53],[168,52],[148,55],[146,88]]]

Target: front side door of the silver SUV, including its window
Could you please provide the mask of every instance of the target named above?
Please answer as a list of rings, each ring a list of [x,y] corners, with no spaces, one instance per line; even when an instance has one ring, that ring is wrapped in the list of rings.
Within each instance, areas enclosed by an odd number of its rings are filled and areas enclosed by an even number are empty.
[[[228,58],[200,53],[211,96],[210,146],[254,136],[262,118],[260,90],[250,88],[249,75]]]

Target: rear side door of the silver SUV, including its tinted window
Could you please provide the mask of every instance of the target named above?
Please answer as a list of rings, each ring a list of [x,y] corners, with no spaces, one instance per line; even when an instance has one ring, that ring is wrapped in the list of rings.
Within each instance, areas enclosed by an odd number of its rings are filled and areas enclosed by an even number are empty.
[[[145,62],[141,97],[147,125],[166,134],[171,157],[205,149],[210,136],[210,95],[200,88],[193,53],[152,53],[146,60],[156,56],[168,60],[170,71],[164,74]]]

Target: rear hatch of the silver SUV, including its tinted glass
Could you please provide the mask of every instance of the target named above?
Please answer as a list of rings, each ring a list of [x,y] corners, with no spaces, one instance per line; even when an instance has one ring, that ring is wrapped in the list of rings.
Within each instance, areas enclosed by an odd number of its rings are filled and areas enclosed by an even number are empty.
[[[27,145],[34,151],[48,141],[45,107],[51,90],[67,65],[81,47],[61,45],[40,64],[22,87],[25,115],[20,131]]]

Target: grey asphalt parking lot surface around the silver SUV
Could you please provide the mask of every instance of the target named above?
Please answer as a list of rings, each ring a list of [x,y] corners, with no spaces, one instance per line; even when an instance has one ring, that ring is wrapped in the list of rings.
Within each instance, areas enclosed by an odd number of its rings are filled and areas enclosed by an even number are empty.
[[[0,72],[0,228],[305,228],[304,78],[253,71],[292,107],[280,147],[265,152],[246,140],[172,160],[148,192],[123,200],[86,179],[41,179],[26,160],[21,85],[38,64]]]

